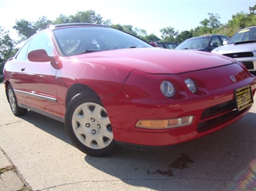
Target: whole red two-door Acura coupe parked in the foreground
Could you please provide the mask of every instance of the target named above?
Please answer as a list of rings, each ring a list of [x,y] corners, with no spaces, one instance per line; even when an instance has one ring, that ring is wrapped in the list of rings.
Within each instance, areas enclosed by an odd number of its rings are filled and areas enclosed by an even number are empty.
[[[92,156],[211,134],[244,116],[256,90],[237,60],[158,49],[97,24],[38,32],[6,62],[4,83],[15,116],[29,109],[64,122]]]

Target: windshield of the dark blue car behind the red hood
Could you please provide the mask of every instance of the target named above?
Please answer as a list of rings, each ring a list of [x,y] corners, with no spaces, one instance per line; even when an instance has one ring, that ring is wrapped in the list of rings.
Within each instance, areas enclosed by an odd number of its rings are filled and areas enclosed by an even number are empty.
[[[175,49],[204,49],[207,47],[210,37],[199,37],[193,39],[187,39],[182,42]]]

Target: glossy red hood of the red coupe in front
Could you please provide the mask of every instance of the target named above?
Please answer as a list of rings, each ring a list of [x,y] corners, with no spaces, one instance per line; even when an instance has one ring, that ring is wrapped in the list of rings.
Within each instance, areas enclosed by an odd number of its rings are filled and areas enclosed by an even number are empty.
[[[185,73],[219,67],[236,62],[208,52],[190,50],[166,50],[161,48],[131,48],[92,52],[73,56],[74,59],[105,67],[130,67],[146,73]]]

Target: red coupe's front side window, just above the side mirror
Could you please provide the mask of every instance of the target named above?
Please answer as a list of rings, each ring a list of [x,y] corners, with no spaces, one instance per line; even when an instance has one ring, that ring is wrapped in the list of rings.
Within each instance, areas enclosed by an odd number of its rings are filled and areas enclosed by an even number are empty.
[[[31,39],[30,47],[27,52],[37,49],[44,49],[49,56],[53,56],[53,45],[50,42],[48,34],[40,33]]]

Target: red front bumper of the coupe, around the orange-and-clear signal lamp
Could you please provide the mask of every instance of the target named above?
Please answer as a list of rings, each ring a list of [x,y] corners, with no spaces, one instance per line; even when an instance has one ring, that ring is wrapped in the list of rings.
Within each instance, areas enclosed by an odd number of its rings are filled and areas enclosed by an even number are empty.
[[[218,73],[219,78],[203,70],[180,75],[181,79],[187,78],[187,75],[199,76],[198,79],[200,78],[204,84],[198,94],[188,91],[185,93],[180,88],[180,97],[173,99],[161,97],[161,93],[158,95],[157,90],[150,86],[156,83],[156,79],[150,81],[146,75],[141,79],[150,84],[148,87],[142,85],[144,88],[138,88],[138,80],[126,81],[121,93],[102,99],[110,117],[115,141],[142,146],[168,146],[206,136],[242,118],[250,110],[250,106],[238,111],[234,90],[250,85],[252,96],[255,95],[255,76],[242,70],[238,65],[234,70],[215,68],[211,71]],[[228,79],[223,81],[226,75]],[[231,82],[230,75],[236,76],[236,83]],[[211,80],[213,77],[214,82]],[[164,79],[166,78],[168,77],[164,75]],[[143,83],[139,82],[139,84]],[[211,88],[206,88],[210,86]],[[141,119],[154,120],[184,116],[193,116],[193,123],[173,129],[136,127],[137,121]]]

